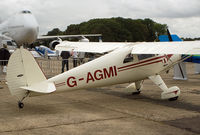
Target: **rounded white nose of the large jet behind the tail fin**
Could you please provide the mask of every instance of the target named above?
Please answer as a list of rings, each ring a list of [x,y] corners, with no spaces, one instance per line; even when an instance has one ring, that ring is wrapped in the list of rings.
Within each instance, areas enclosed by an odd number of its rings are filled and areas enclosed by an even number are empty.
[[[23,10],[0,24],[0,43],[14,40],[17,45],[31,44],[38,36],[39,25],[29,10]]]

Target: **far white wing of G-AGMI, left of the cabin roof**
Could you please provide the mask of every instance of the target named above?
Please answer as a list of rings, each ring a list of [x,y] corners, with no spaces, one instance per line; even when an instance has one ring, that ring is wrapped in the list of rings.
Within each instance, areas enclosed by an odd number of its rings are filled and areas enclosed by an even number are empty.
[[[118,42],[67,42],[63,41],[55,47],[59,52],[61,51],[74,51],[89,52],[89,53],[105,53],[113,51],[117,48],[124,47],[130,43]]]

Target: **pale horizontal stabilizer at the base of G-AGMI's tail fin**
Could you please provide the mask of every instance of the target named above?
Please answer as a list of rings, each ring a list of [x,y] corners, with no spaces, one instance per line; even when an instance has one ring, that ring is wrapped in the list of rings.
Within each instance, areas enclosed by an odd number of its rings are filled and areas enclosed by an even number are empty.
[[[20,88],[38,93],[51,93],[56,90],[54,83],[49,83],[47,81],[36,83],[28,87],[24,86]]]

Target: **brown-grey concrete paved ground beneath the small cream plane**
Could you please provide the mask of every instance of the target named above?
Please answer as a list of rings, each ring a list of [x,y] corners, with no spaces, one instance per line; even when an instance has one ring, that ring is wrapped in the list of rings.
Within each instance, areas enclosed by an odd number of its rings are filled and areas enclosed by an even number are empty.
[[[160,99],[160,90],[150,80],[140,95],[126,91],[127,84],[77,90],[27,98],[24,109],[0,89],[1,135],[197,135],[200,134],[200,75],[188,81],[162,75],[167,85],[181,88],[177,101]]]

